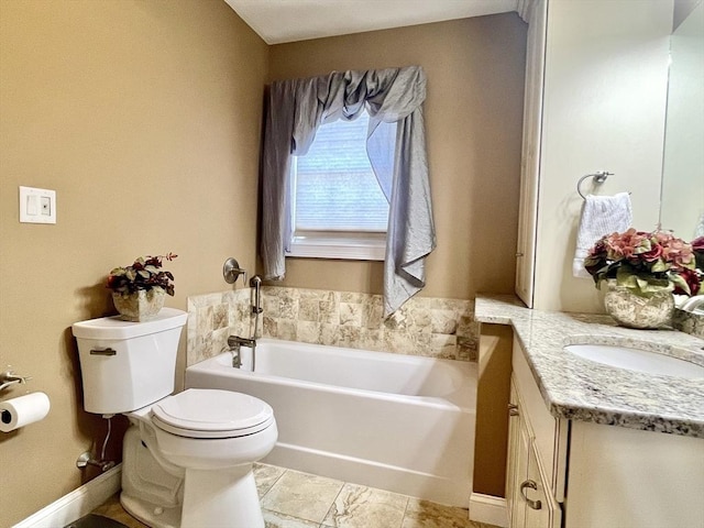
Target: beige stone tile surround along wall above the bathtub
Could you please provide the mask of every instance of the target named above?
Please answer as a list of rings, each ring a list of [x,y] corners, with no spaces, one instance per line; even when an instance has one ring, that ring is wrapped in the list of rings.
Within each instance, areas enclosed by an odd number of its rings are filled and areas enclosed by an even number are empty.
[[[251,288],[188,298],[187,365],[218,355],[228,336],[254,330]],[[476,361],[474,301],[414,297],[387,320],[382,296],[262,287],[258,337]]]

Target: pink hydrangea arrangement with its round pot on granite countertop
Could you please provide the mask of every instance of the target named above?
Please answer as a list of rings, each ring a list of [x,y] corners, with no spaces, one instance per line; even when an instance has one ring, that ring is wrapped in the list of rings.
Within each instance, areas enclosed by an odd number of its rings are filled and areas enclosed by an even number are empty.
[[[669,231],[631,228],[604,235],[590,250],[584,267],[597,288],[607,280],[606,311],[630,328],[669,326],[672,294],[696,295],[701,288],[692,245]]]

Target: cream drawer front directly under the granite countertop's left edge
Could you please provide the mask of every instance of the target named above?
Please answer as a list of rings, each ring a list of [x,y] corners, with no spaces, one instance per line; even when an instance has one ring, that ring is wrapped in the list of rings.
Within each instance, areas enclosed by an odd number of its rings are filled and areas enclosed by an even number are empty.
[[[544,464],[547,483],[558,502],[564,501],[566,473],[568,421],[553,417],[532,376],[518,339],[514,338],[514,380],[525,409],[522,418],[534,437],[536,451]]]

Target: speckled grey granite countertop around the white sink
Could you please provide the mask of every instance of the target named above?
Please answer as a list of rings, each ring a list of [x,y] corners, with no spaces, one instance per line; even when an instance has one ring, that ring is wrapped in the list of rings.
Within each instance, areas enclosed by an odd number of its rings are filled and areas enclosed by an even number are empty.
[[[704,438],[704,380],[610,367],[563,350],[578,343],[635,345],[704,365],[704,340],[617,327],[605,315],[531,310],[513,296],[477,295],[475,318],[514,327],[553,416]]]

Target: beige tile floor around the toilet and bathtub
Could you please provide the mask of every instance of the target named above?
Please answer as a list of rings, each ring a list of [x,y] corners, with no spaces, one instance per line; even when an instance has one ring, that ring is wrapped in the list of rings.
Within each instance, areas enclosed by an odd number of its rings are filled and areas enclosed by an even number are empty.
[[[254,477],[266,528],[496,528],[468,520],[463,508],[274,465],[256,464]],[[146,528],[117,495],[94,513]]]

